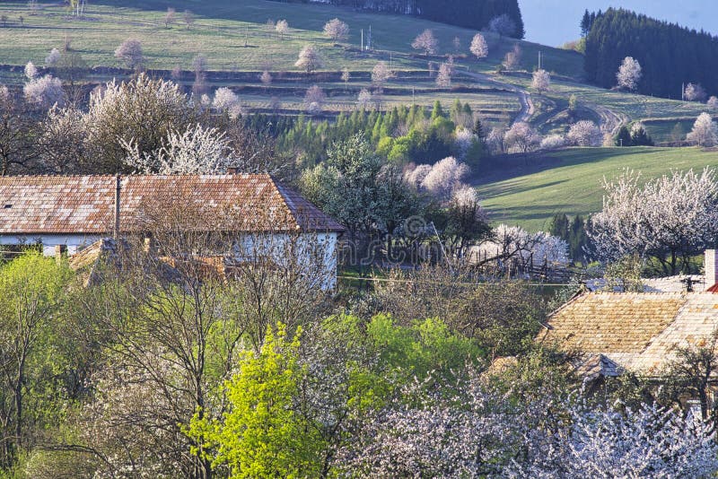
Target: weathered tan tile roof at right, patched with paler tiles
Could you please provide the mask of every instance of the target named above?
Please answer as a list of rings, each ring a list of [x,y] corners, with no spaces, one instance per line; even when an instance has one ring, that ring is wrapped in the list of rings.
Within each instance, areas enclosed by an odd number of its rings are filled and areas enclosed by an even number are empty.
[[[627,370],[659,373],[676,345],[701,345],[718,327],[710,292],[588,292],[548,319],[537,337],[566,351],[603,354]]]

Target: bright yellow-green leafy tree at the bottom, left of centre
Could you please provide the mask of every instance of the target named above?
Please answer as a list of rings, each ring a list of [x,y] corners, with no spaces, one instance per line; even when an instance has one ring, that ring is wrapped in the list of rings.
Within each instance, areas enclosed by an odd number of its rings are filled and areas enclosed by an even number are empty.
[[[303,371],[299,335],[287,339],[280,323],[268,331],[261,352],[244,353],[239,372],[225,384],[229,410],[221,420],[198,415],[188,433],[205,440],[214,467],[228,466],[232,478],[315,477],[320,470],[320,435],[293,409]],[[197,450],[195,452],[198,452]]]

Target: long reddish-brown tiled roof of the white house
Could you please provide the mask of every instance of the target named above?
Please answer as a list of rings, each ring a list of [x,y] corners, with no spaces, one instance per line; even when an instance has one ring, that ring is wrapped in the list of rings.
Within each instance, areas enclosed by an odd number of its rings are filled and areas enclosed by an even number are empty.
[[[115,181],[114,176],[0,177],[0,234],[107,234]],[[122,231],[142,230],[149,216],[172,208],[198,213],[212,230],[344,231],[269,175],[121,178]]]

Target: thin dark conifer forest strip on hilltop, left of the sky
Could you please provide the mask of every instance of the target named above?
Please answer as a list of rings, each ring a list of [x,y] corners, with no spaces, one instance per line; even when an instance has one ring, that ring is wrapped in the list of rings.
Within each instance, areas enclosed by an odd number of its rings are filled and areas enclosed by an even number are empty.
[[[281,1],[281,0],[280,0]],[[285,2],[312,3],[316,0],[284,0]],[[482,30],[496,17],[507,15],[514,23],[508,36],[522,39],[523,19],[518,0],[328,0],[326,4],[361,8],[373,12],[416,15],[435,22],[449,23],[464,28]]]

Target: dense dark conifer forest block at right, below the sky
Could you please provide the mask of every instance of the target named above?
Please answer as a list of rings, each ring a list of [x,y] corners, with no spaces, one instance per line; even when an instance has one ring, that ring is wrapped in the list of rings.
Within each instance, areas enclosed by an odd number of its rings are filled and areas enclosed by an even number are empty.
[[[701,30],[690,30],[653,20],[624,9],[584,14],[585,71],[590,82],[605,88],[617,85],[616,72],[625,57],[643,67],[635,90],[665,98],[683,98],[686,83],[700,84],[709,93],[718,90],[718,39]],[[585,31],[585,30],[584,30]]]

